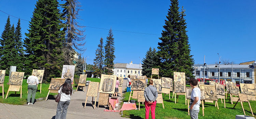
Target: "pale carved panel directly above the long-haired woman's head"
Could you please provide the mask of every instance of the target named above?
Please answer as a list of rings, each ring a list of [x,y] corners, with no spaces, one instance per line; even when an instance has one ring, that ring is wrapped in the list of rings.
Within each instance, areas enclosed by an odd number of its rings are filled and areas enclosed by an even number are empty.
[[[75,65],[63,65],[61,79],[74,81]]]

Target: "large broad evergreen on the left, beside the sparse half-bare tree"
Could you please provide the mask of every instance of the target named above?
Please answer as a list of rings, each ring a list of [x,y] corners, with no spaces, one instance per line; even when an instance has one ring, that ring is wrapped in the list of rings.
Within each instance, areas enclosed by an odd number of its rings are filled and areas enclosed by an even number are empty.
[[[60,77],[63,65],[61,51],[64,32],[61,31],[60,11],[57,0],[39,0],[29,22],[26,46],[26,73],[32,69],[45,69],[46,78]],[[46,80],[45,78],[45,80]]]

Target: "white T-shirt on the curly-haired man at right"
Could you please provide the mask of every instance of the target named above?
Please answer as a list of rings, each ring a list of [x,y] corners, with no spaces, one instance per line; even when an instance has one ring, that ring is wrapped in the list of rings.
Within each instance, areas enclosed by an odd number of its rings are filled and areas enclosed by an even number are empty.
[[[197,103],[193,106],[194,110],[199,110],[200,107],[200,99],[201,99],[201,90],[198,87],[195,87],[191,92],[191,99],[190,99],[190,105],[194,102],[194,100],[198,97]],[[190,108],[189,105],[189,108]]]

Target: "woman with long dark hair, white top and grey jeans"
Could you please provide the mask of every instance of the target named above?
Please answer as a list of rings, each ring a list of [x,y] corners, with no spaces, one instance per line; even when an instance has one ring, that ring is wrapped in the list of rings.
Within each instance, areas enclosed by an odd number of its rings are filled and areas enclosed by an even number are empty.
[[[58,93],[60,92],[60,101],[58,102],[55,119],[66,119],[68,106],[71,99],[70,96],[73,93],[71,79],[67,79],[65,83],[60,86]]]

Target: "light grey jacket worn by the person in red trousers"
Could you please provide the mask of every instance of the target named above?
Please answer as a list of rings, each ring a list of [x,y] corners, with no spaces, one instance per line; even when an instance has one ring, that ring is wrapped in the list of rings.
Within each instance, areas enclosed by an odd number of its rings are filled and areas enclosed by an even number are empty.
[[[149,85],[144,90],[144,97],[146,101],[156,101],[157,98],[157,90],[152,85]]]

